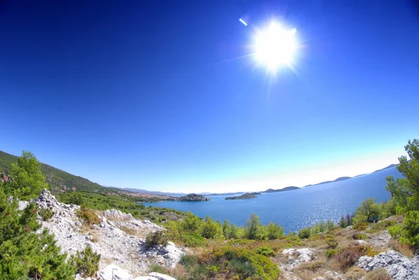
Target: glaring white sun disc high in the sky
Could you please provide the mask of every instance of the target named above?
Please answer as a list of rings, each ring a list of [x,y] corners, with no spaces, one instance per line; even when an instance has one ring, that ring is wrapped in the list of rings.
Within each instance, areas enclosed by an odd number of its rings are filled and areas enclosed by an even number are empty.
[[[268,70],[276,71],[279,66],[291,66],[297,49],[296,29],[287,30],[277,22],[258,31],[254,42],[254,56]]]

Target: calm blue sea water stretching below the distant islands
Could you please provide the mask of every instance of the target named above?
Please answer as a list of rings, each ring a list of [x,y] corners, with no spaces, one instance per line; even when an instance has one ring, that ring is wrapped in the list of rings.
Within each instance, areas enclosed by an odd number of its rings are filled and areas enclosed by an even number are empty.
[[[221,221],[228,219],[230,223],[240,226],[255,213],[260,216],[262,223],[279,223],[288,233],[312,226],[318,221],[338,221],[342,215],[353,213],[365,198],[376,198],[378,202],[388,200],[390,193],[385,190],[387,176],[402,175],[396,168],[388,168],[341,182],[307,186],[295,191],[263,193],[253,199],[225,200],[227,196],[210,196],[211,201],[144,204],[191,211],[197,216],[212,216]]]

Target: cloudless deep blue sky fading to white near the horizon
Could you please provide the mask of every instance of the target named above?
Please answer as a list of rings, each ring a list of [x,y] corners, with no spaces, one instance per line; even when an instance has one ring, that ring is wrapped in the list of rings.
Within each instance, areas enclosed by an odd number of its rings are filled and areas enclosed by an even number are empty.
[[[0,4],[0,149],[99,184],[303,186],[418,137],[413,1],[17,2]],[[244,57],[273,19],[302,45],[275,77]]]

